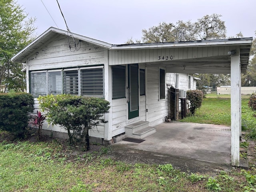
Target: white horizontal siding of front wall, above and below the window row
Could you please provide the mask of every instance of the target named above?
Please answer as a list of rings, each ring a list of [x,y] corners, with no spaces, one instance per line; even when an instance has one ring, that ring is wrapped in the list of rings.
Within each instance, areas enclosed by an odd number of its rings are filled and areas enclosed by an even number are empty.
[[[70,44],[72,44],[73,40],[69,39],[69,41]],[[74,51],[72,48],[72,51],[70,51],[70,44],[67,36],[58,35],[52,38],[48,44],[44,44],[44,46],[36,50],[28,57],[27,73],[28,71],[31,72],[37,70],[51,70],[56,68],[72,67],[77,68],[98,64],[103,65],[105,61],[108,61],[105,59],[105,48],[81,41],[81,46],[78,44],[76,51]],[[106,80],[107,78],[108,77],[104,79],[104,82],[108,82],[108,80]],[[27,86],[27,88],[29,88],[29,86]],[[36,111],[41,111],[41,109],[39,107],[38,100],[35,98],[34,101],[35,110],[33,114],[36,114]],[[47,122],[44,123],[43,129],[56,132],[67,132],[60,125],[52,126],[48,125]],[[104,138],[104,125],[101,124],[96,128],[89,130],[89,135]]]

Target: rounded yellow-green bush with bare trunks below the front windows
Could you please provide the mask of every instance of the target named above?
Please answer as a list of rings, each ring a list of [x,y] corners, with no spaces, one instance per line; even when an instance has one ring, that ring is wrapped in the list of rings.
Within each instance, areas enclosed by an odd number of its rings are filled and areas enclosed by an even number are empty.
[[[59,124],[68,131],[70,144],[74,143],[74,136],[85,138],[86,150],[90,149],[88,130],[100,123],[106,123],[100,118],[110,108],[108,101],[95,97],[64,94],[40,96],[38,100],[50,122]],[[71,133],[70,130],[73,132]]]

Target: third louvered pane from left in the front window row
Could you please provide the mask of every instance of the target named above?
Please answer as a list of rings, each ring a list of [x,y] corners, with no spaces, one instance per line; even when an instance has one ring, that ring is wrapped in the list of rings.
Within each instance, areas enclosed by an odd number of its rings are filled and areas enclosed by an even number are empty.
[[[63,92],[64,94],[78,95],[78,70],[64,71]]]

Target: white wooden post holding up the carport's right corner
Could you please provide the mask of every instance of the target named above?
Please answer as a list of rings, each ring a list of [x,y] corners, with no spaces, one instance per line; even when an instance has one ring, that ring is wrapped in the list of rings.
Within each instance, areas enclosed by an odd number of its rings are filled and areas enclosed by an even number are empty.
[[[239,50],[239,49],[237,49]],[[231,56],[231,165],[240,166],[241,73],[240,53]]]

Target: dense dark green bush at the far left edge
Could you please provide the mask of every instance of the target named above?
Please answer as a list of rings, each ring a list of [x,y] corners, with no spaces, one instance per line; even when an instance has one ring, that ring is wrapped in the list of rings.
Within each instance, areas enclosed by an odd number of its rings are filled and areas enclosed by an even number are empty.
[[[0,130],[24,138],[29,113],[34,110],[34,98],[27,93],[0,94]]]

